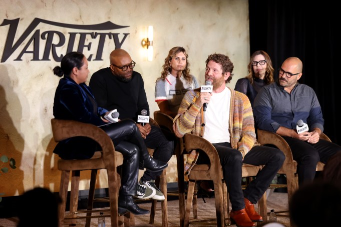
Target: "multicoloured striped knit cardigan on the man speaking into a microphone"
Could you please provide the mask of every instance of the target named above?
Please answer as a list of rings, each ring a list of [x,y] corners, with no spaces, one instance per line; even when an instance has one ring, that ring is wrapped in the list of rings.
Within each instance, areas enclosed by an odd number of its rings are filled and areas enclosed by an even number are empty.
[[[228,87],[228,89],[230,89]],[[232,148],[238,149],[243,157],[256,145],[256,134],[254,131],[254,118],[248,97],[238,91],[231,90],[229,131],[230,143]],[[203,136],[205,132],[205,112],[195,104],[199,97],[200,88],[186,92],[180,104],[178,114],[173,120],[173,130],[178,137],[183,137],[185,133],[193,133]],[[188,175],[196,160],[199,152],[192,150],[187,157],[185,165],[185,175]]]

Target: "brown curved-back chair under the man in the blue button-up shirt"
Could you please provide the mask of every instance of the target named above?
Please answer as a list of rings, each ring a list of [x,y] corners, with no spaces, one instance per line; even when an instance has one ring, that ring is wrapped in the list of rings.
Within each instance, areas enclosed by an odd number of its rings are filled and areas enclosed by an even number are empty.
[[[329,137],[326,136],[324,133],[320,134],[320,139],[331,141]],[[288,191],[288,201],[289,201],[293,192],[296,189],[298,189],[298,175],[296,172],[297,162],[292,157],[291,149],[288,143],[282,138],[282,136],[274,132],[265,131],[261,129],[258,129],[258,142],[261,145],[265,145],[265,144],[275,145],[278,149],[280,149],[285,154],[285,160],[283,162],[282,167],[278,170],[278,173],[286,175],[286,187]],[[316,165],[316,171],[323,170],[323,167],[324,167],[324,164],[322,162],[318,162]],[[279,211],[279,212],[288,212],[288,211],[285,210],[285,211]]]

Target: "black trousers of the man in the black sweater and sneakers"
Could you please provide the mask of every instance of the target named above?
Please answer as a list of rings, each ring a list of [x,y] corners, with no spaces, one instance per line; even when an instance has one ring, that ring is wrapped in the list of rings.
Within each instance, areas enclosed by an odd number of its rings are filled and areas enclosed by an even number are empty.
[[[145,143],[148,148],[154,149],[153,158],[168,162],[174,152],[175,135],[160,127],[151,125],[152,129],[145,138]],[[142,176],[142,180],[149,181],[160,176],[163,170],[152,172],[146,169]]]

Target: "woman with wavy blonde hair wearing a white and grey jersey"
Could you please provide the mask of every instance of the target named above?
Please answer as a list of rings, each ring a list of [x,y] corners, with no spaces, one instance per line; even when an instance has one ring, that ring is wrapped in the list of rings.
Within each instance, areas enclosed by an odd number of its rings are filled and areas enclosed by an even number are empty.
[[[197,79],[189,73],[188,54],[184,47],[169,50],[162,65],[161,76],[156,79],[155,101],[160,111],[174,117],[187,90],[199,87]]]

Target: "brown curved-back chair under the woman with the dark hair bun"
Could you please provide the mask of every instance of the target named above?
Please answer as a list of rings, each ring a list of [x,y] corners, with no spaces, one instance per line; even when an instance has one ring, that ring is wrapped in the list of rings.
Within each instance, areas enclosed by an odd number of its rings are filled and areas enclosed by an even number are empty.
[[[89,159],[58,160],[58,169],[62,171],[59,191],[59,195],[62,198],[62,203],[59,207],[60,226],[63,225],[66,219],[73,219],[73,224],[75,224],[75,218],[79,218],[77,216],[77,213],[79,212],[77,210],[77,206],[80,172],[82,170],[91,170],[86,226],[90,226],[90,218],[99,217],[99,215],[92,215],[98,169],[106,169],[108,174],[110,215],[108,214],[105,216],[111,217],[112,226],[122,226],[123,219],[120,218],[119,221],[118,215],[118,191],[120,186],[120,177],[116,168],[123,163],[123,155],[120,152],[115,151],[114,144],[105,131],[93,124],[61,119],[51,119],[51,124],[53,137],[56,142],[74,136],[86,136],[97,141],[102,147],[102,151],[96,151],[94,156]],[[70,171],[72,172],[70,215],[65,217]],[[126,225],[130,225],[132,224],[132,221],[133,218],[131,220],[125,220],[124,222]]]

